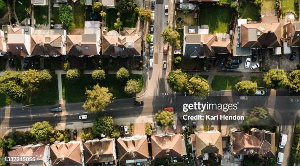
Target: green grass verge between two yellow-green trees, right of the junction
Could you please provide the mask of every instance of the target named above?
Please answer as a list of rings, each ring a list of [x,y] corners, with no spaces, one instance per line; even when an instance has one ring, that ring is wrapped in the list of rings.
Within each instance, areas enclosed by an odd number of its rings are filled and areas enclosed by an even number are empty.
[[[211,83],[213,90],[232,90],[242,80],[242,76],[215,76]]]

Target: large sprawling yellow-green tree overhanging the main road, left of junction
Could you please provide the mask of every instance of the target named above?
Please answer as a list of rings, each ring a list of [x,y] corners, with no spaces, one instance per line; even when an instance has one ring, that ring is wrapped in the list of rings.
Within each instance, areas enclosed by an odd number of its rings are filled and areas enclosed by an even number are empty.
[[[99,84],[95,85],[92,90],[86,90],[87,98],[83,104],[83,108],[90,112],[98,112],[104,109],[108,104],[113,94],[108,92],[107,87],[100,87]]]

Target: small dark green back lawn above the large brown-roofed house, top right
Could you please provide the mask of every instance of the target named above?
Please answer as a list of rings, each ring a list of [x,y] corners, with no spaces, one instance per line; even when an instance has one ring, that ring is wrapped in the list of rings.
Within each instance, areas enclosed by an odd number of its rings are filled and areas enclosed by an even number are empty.
[[[242,19],[250,18],[252,21],[259,21],[259,8],[254,3],[244,0],[242,11]]]

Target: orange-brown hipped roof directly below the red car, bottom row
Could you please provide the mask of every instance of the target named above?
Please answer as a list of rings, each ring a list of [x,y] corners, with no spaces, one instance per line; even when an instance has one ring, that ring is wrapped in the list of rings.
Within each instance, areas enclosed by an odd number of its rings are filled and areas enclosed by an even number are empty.
[[[152,136],[151,147],[154,158],[181,157],[182,141],[180,134]]]

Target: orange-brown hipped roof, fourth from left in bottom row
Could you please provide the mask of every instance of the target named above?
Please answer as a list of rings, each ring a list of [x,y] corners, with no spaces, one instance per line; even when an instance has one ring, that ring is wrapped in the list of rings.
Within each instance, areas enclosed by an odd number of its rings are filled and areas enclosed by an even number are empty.
[[[148,159],[147,136],[133,136],[117,140],[119,161]]]

